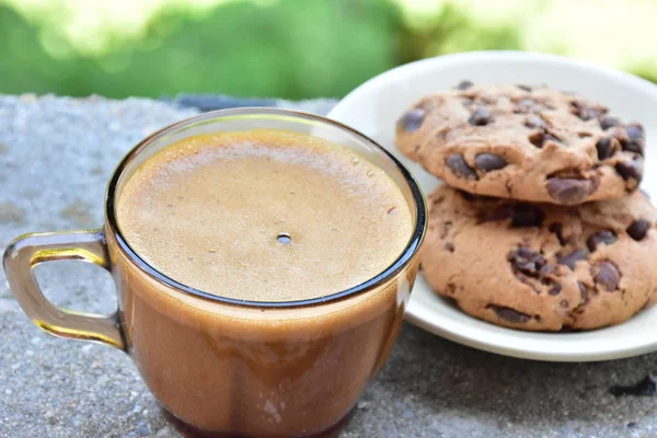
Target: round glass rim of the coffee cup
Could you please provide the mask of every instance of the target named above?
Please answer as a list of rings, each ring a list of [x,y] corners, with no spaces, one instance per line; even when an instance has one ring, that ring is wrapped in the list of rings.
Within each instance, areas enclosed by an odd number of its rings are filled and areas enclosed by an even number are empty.
[[[128,164],[137,158],[141,153],[143,149],[146,149],[153,141],[175,132],[180,129],[184,129],[187,126],[195,125],[197,123],[210,122],[212,119],[220,119],[226,117],[234,117],[234,116],[253,116],[253,115],[263,115],[263,116],[287,116],[292,118],[301,118],[306,120],[311,120],[315,123],[321,123],[325,125],[331,125],[337,129],[346,130],[351,135],[355,135],[360,141],[365,141],[369,143],[373,149],[383,154],[392,164],[396,168],[396,170],[402,174],[404,182],[407,184],[414,204],[415,204],[415,223],[413,233],[408,240],[408,243],[397,256],[397,258],[381,273],[371,277],[370,279],[353,286],[348,289],[331,293],[324,297],[316,297],[306,300],[292,300],[292,301],[255,301],[255,300],[240,300],[229,297],[217,296],[212,293],[205,292],[200,289],[193,288],[191,286],[184,285],[174,278],[161,273],[160,270],[152,267],[149,263],[147,263],[141,256],[130,246],[127,242],[120,228],[118,227],[117,217],[116,217],[116,191],[118,186],[118,182],[124,171],[128,166]],[[128,153],[124,155],[124,158],[119,161],[117,166],[114,169],[110,182],[107,184],[107,188],[105,191],[105,223],[108,230],[111,231],[114,239],[116,239],[118,243],[118,247],[120,251],[128,256],[131,263],[134,263],[142,273],[147,274],[153,280],[169,287],[175,289],[176,291],[181,291],[188,296],[195,298],[201,298],[205,300],[210,300],[224,304],[235,304],[241,307],[249,308],[293,308],[293,307],[310,307],[318,304],[326,304],[330,302],[335,302],[342,299],[351,298],[357,295],[365,293],[370,291],[382,284],[387,283],[390,278],[397,275],[402,272],[406,265],[413,260],[415,254],[417,253],[419,245],[422,244],[427,226],[427,207],[425,197],[419,188],[419,185],[408,172],[408,170],[392,155],[385,148],[381,147],[371,138],[366,135],[359,132],[358,130],[344,125],[339,122],[332,120],[330,118],[319,116],[315,114],[304,113],[300,111],[293,110],[283,110],[276,107],[240,107],[240,108],[230,108],[230,110],[219,110],[212,111],[208,113],[203,113],[193,117],[185,118],[183,120],[171,124],[150,136],[146,137],[139,143],[137,143]]]

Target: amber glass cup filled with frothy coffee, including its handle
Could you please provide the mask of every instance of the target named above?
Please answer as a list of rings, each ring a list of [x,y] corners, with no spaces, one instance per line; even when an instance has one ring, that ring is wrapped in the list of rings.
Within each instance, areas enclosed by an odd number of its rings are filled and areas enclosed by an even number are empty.
[[[140,143],[102,230],[31,234],[12,290],[50,333],[128,353],[187,433],[335,430],[380,370],[417,272],[425,207],[371,140],[279,110],[206,114]],[[83,258],[117,285],[111,316],[49,303],[31,268]]]

